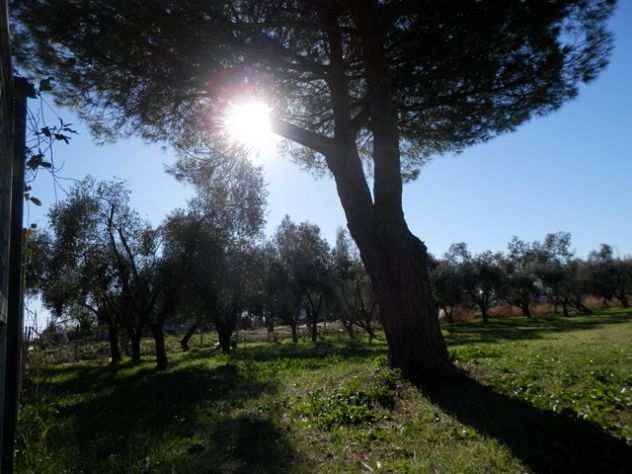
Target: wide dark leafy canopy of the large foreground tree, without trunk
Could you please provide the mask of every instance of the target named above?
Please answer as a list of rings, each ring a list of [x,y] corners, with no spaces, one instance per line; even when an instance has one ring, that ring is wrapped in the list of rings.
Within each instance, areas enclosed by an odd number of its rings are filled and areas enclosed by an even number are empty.
[[[13,3],[21,64],[52,76],[58,100],[102,135],[179,141],[221,127],[226,104],[254,94],[287,122],[282,135],[322,151],[341,125],[341,90],[352,130],[380,119],[370,111],[378,94],[370,53],[380,42],[411,170],[574,97],[606,64],[605,20],[615,4]]]

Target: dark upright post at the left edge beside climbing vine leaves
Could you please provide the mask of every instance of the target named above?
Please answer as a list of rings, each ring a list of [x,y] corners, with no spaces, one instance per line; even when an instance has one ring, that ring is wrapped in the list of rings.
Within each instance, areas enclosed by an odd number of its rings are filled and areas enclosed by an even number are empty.
[[[13,472],[15,426],[18,408],[22,330],[24,325],[24,293],[22,274],[24,156],[26,149],[26,101],[29,90],[26,80],[15,80],[14,154],[11,195],[11,242],[9,246],[9,292],[7,311],[7,359],[5,366],[4,437],[2,474]]]

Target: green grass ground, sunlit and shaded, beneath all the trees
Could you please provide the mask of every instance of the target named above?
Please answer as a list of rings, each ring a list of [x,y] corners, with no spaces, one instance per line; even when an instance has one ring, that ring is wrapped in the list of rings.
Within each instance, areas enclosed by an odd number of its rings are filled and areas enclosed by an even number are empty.
[[[631,315],[444,332],[467,376],[420,388],[335,336],[34,370],[17,472],[632,472]]]

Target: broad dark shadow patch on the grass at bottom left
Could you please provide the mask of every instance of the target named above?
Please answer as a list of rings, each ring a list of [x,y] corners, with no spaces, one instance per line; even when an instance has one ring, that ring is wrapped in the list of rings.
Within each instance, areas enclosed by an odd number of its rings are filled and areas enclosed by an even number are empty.
[[[84,378],[82,390],[75,379],[58,387],[77,390],[59,405],[63,421],[49,436],[51,447],[71,458],[72,472],[272,473],[293,456],[272,420],[239,411],[276,393],[275,380],[231,364],[140,370],[114,383],[108,374]]]

